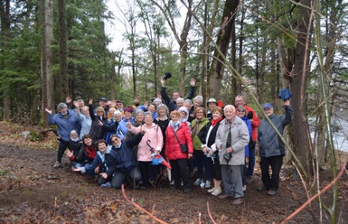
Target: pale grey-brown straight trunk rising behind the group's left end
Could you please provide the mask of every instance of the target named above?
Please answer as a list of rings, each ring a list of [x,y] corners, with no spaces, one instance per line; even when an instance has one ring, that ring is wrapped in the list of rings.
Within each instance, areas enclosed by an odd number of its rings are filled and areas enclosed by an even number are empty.
[[[52,0],[41,0],[42,13],[42,117],[48,126],[44,107],[54,109],[54,79],[52,74],[53,5]]]

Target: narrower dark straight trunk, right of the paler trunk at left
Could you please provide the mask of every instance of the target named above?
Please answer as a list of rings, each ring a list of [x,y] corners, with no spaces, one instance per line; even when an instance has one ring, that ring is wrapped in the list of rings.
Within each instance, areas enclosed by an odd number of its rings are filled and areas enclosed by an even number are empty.
[[[65,13],[65,0],[58,1],[58,23],[60,43],[60,82],[61,89],[58,91],[61,97],[70,96],[68,79],[68,47],[67,47],[67,25]]]

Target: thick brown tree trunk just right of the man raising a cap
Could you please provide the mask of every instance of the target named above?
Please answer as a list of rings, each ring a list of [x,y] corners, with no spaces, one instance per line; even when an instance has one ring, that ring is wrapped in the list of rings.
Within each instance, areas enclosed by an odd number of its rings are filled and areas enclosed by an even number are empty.
[[[294,153],[307,173],[312,173],[311,138],[306,120],[306,80],[310,70],[309,50],[313,33],[311,2],[311,0],[303,0],[301,4],[306,7],[299,7],[294,76],[291,80],[291,89],[294,94],[291,100],[291,105],[294,107],[293,126],[296,126]]]

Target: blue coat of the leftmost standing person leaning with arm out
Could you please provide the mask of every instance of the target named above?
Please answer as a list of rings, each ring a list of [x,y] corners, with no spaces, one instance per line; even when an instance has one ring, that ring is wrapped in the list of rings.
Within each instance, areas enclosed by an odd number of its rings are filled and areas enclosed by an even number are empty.
[[[59,128],[59,135],[65,141],[71,139],[71,131],[78,131],[78,119],[76,117],[75,111],[68,109],[67,117],[63,117],[61,113],[57,113],[54,116],[49,115],[48,119],[50,125],[57,125]]]

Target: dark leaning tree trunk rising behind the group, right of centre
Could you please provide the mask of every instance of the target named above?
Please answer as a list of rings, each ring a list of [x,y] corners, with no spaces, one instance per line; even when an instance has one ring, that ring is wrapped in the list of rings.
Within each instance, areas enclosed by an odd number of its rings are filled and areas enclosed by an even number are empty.
[[[226,56],[229,49],[230,35],[232,33],[233,23],[235,19],[235,11],[239,4],[238,0],[226,0],[223,8],[221,30],[218,34],[218,40],[216,41],[217,47],[221,53]],[[214,58],[212,60],[212,67],[210,70],[211,85],[210,93],[211,98],[220,98],[220,86],[223,74],[223,65],[221,63],[222,57],[218,50],[214,51]]]

